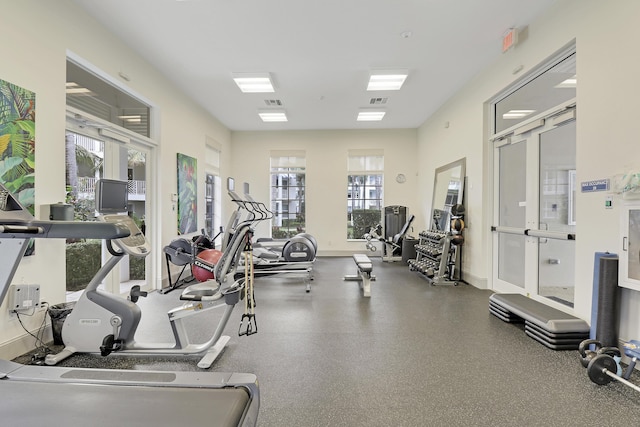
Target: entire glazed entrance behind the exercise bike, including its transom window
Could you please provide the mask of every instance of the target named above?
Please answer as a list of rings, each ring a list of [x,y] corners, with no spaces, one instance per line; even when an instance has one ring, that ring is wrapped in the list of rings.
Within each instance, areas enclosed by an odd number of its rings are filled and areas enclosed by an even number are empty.
[[[157,224],[151,106],[75,55],[67,58],[66,80],[66,186],[75,219],[94,219],[98,179],[127,181],[129,216],[151,241]],[[67,271],[74,271],[67,274],[68,301],[77,299],[75,290],[84,289],[107,253],[103,243],[93,243],[67,241]],[[155,263],[155,257],[123,257],[101,286],[113,294],[128,293],[135,282],[149,290],[157,282]]]

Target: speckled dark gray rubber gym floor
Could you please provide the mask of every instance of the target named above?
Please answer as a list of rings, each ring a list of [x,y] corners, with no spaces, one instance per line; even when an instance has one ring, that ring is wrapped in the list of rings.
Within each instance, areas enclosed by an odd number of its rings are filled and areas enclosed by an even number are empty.
[[[297,280],[257,280],[258,333],[249,337],[237,335],[236,307],[231,341],[211,369],[257,375],[259,426],[639,424],[640,394],[593,384],[577,351],[547,349],[490,315],[491,292],[430,286],[404,265],[374,259],[377,281],[363,298],[357,282],[342,280],[354,270],[350,257],[318,259],[311,293]],[[141,303],[139,340],[169,339],[165,312],[177,298]],[[195,341],[218,315],[189,323]],[[63,364],[198,370],[197,360],[77,355]]]

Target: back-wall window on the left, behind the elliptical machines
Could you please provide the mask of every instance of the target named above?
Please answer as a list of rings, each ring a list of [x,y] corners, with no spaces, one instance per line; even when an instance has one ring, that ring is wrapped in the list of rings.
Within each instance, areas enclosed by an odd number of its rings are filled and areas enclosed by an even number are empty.
[[[306,231],[304,152],[271,153],[271,237],[287,238]]]

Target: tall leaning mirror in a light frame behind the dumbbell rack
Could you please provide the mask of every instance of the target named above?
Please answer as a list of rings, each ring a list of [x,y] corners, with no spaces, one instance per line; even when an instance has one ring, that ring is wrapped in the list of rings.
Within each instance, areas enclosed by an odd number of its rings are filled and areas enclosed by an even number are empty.
[[[431,229],[449,231],[451,207],[462,204],[465,158],[436,169],[431,202]]]

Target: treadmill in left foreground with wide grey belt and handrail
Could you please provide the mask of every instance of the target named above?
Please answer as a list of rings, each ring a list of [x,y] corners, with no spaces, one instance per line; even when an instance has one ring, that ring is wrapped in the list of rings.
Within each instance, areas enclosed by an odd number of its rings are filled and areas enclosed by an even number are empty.
[[[109,240],[129,234],[118,223],[36,220],[0,184],[0,303],[29,239]],[[1,359],[0,395],[3,425],[249,427],[256,425],[260,407],[253,374],[87,369]]]

